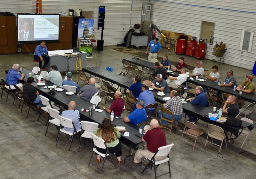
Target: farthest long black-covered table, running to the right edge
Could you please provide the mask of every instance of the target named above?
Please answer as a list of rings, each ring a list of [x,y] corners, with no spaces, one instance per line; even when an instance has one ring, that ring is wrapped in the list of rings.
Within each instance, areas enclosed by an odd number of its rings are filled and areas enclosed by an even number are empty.
[[[134,58],[124,58],[123,60],[129,62],[129,63],[133,63],[135,65],[139,65],[139,66],[144,66],[147,67],[149,69],[155,70],[154,68],[154,64],[151,62],[148,62],[146,60],[142,60],[142,59],[134,59]],[[172,70],[172,69],[171,69]],[[166,72],[167,75],[172,75],[174,77],[179,76],[181,73],[180,71],[173,71],[173,72]],[[189,83],[193,83],[195,85],[198,86],[202,86],[204,88],[211,88],[215,91],[219,91],[221,93],[228,93],[228,94],[233,94],[235,96],[237,96],[238,98],[242,98],[246,101],[250,101],[250,102],[256,102],[256,94],[252,94],[252,93],[242,93],[239,94],[238,91],[234,91],[232,87],[227,87],[227,86],[219,86],[218,83],[213,82],[211,80],[206,80],[206,81],[198,81],[196,80],[196,77],[191,77],[193,78],[187,78],[187,82]]]

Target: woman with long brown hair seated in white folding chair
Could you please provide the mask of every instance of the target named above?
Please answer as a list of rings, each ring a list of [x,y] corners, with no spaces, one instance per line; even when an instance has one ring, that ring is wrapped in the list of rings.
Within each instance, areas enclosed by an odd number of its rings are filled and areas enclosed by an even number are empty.
[[[109,118],[104,118],[100,128],[95,129],[93,132],[96,136],[105,140],[106,145],[110,153],[116,153],[116,157],[118,163],[121,163],[121,156],[122,156],[122,146],[118,138],[120,138],[120,132],[116,127],[111,125],[111,121]],[[107,149],[102,149],[96,147],[97,151],[100,153],[106,153]],[[100,162],[100,155],[97,155],[97,160]]]

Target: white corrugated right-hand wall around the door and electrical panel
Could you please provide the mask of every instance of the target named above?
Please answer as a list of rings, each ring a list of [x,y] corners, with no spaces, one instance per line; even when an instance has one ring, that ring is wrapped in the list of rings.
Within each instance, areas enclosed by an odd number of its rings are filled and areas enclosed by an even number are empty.
[[[152,4],[151,20],[159,29],[186,33],[199,38],[201,22],[214,22],[213,46],[215,42],[226,43],[228,50],[224,55],[225,63],[252,69],[256,59],[256,33],[254,33],[251,53],[241,54],[239,45],[242,30],[256,30],[256,13],[241,12],[256,12],[255,0],[150,0],[150,3]],[[207,59],[215,58],[209,48],[207,51]]]

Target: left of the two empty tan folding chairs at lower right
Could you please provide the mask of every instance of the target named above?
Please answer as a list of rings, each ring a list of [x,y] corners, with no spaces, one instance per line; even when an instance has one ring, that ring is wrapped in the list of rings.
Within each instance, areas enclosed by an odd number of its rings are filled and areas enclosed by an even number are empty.
[[[184,134],[187,135],[188,138],[189,138],[189,137],[192,137],[192,138],[195,138],[196,140],[197,140],[197,137],[199,137],[199,138],[200,138],[200,141],[201,141],[201,143],[202,143],[201,135],[203,135],[204,132],[203,132],[203,131],[199,131],[197,125],[194,124],[194,123],[191,123],[191,122],[189,122],[189,121],[185,121],[185,122],[184,122],[184,125],[185,125],[185,128],[184,128],[183,133],[182,133],[182,136],[181,136],[180,144],[181,144],[181,141],[182,141],[182,138],[183,138]],[[188,141],[186,141],[186,140],[183,140],[183,141],[184,141],[184,142],[187,142],[188,144],[193,145],[193,152],[194,152],[195,145],[196,145],[196,140],[195,140],[195,143],[194,143],[194,144],[193,144],[193,143],[190,143],[190,142],[188,142]],[[203,144],[203,143],[202,143],[202,144]]]

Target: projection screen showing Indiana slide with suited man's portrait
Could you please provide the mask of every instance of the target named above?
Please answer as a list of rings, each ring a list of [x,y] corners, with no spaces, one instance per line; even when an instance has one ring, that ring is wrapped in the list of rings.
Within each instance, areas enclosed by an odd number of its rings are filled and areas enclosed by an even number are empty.
[[[59,40],[59,15],[18,14],[18,43]]]

